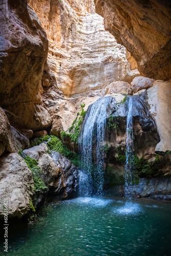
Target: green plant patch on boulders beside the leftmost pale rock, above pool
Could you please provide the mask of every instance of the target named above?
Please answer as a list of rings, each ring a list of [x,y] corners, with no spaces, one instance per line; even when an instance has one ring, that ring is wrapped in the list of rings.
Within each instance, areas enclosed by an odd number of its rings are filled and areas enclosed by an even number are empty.
[[[42,174],[42,172],[40,167],[38,166],[38,162],[29,156],[25,157],[24,160],[33,174],[34,191],[46,191],[48,188],[45,186],[45,183],[40,178],[40,174]]]

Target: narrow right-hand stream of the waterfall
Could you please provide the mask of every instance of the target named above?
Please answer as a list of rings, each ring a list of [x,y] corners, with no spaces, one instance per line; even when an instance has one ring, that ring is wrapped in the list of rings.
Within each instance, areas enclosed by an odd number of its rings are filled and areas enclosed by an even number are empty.
[[[133,97],[129,97],[126,117],[126,163],[125,163],[125,198],[131,199],[129,185],[132,185],[134,175],[134,140],[133,140]]]

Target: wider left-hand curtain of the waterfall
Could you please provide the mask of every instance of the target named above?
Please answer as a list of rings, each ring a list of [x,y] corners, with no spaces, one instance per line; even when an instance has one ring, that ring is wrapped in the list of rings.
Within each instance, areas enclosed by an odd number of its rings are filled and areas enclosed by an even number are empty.
[[[79,136],[82,169],[87,175],[86,188],[82,189],[86,196],[102,194],[104,183],[103,141],[111,99],[111,97],[100,98],[89,106]],[[85,185],[85,182],[83,183]]]

